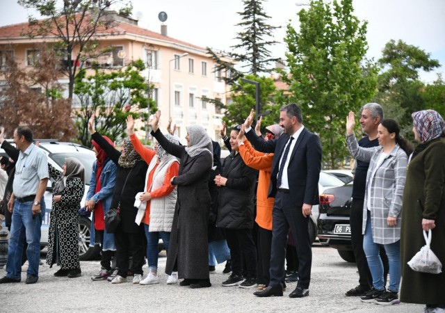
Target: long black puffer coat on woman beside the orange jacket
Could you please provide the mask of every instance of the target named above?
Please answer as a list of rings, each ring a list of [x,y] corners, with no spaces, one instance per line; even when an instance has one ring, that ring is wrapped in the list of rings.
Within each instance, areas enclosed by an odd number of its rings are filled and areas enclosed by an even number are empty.
[[[254,188],[257,170],[245,165],[241,155],[232,151],[225,158],[221,176],[227,178],[219,188],[219,209],[216,226],[235,230],[253,227]]]

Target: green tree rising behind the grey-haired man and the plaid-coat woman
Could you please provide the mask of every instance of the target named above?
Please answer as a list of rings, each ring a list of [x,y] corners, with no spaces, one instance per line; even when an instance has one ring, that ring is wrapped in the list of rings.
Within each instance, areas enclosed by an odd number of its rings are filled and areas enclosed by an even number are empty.
[[[401,133],[412,138],[411,113],[426,107],[425,85],[419,79],[419,71],[435,70],[440,66],[439,61],[419,47],[407,45],[402,40],[390,40],[378,63],[382,72],[378,76],[376,99],[387,110],[385,115],[398,120]]]

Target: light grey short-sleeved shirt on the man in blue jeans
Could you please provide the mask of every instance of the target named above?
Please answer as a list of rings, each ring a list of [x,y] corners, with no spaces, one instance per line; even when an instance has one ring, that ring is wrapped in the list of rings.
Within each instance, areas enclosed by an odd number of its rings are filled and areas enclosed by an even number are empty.
[[[40,180],[44,178],[49,178],[47,154],[31,143],[25,152],[19,152],[15,163],[14,195],[17,198],[35,195]]]

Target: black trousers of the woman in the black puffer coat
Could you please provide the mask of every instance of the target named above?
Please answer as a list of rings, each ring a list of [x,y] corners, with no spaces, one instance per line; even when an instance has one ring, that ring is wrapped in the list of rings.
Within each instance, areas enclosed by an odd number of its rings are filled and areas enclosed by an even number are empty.
[[[257,248],[252,239],[252,230],[225,229],[227,246],[230,249],[232,274],[243,275],[243,262],[246,266],[246,277],[257,277]]]

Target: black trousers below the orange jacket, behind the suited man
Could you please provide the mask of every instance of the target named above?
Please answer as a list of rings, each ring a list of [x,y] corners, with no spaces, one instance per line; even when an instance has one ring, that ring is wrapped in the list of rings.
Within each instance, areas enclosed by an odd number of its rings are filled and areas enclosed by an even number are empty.
[[[272,230],[266,230],[258,226],[257,252],[258,273],[257,284],[268,284],[270,280],[270,247],[272,246]]]

